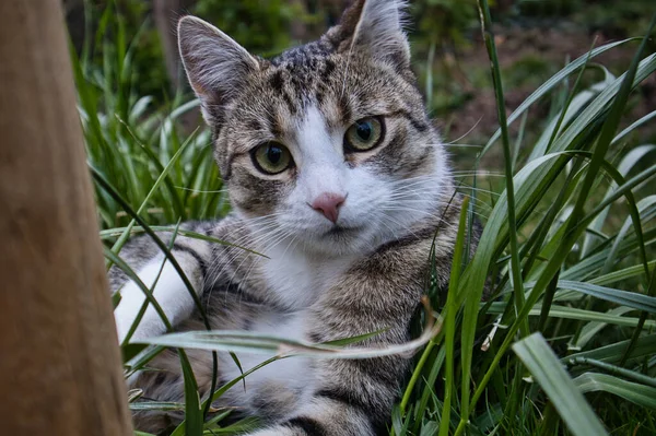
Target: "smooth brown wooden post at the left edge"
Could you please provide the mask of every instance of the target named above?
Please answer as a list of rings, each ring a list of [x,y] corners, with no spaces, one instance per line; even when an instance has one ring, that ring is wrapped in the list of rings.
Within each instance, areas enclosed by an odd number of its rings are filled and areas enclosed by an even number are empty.
[[[61,5],[0,16],[0,433],[127,436]]]

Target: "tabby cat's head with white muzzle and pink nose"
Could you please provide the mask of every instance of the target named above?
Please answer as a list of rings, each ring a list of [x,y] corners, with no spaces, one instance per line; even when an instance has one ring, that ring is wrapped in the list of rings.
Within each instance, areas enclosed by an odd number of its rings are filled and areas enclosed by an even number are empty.
[[[403,7],[355,1],[319,40],[270,60],[180,20],[231,202],[256,232],[343,255],[437,213],[450,176],[410,69]]]

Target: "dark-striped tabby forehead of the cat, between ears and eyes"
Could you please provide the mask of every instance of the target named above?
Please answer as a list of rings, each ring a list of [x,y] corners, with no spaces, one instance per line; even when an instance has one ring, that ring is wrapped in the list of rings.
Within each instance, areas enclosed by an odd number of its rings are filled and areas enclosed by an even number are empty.
[[[329,128],[343,127],[365,116],[407,109],[414,94],[389,68],[319,40],[267,61],[235,102],[230,121],[280,137],[296,129],[311,107]]]

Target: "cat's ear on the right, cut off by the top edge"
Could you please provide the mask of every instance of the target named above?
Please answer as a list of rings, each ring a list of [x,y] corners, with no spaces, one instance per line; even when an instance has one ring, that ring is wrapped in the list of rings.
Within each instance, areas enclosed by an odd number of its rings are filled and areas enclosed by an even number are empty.
[[[342,50],[364,50],[397,70],[410,68],[410,45],[403,32],[405,0],[356,0],[342,15]]]

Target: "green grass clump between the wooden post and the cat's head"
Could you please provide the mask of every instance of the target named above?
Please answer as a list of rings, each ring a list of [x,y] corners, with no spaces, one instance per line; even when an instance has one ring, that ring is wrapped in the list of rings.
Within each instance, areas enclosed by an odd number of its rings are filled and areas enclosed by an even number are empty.
[[[106,32],[108,26],[112,33]],[[226,204],[209,132],[180,131],[180,118],[199,103],[177,96],[157,110],[153,96],[139,94],[133,62],[140,37],[128,43],[122,20],[107,8],[95,49],[84,50],[80,58],[72,54],[89,164],[151,224],[216,216]],[[92,55],[98,47],[99,61]],[[98,189],[96,200],[103,228],[130,223],[107,192]]]

